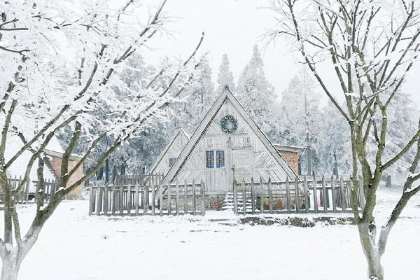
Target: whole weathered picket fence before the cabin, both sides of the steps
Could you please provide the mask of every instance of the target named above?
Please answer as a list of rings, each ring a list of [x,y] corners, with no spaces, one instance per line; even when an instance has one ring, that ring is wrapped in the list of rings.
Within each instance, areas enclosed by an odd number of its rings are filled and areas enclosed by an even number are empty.
[[[161,175],[123,176],[118,184],[90,184],[89,214],[143,216],[205,214],[206,197],[225,197],[235,214],[309,214],[351,211],[351,180],[295,179],[295,181],[235,181],[233,192],[207,193],[204,183],[162,184]],[[358,209],[365,206],[363,186]],[[228,207],[229,208],[229,207]]]

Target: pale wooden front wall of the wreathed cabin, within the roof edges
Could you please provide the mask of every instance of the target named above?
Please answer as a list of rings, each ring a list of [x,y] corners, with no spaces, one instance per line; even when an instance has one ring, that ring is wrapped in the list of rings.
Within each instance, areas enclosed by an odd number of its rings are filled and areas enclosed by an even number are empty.
[[[221,130],[221,119],[232,115],[237,119],[238,127],[234,134]],[[224,168],[206,168],[206,151],[225,151]],[[191,183],[193,180],[204,180],[206,191],[232,191],[233,173],[235,179],[246,181],[262,179],[267,181],[286,181],[287,174],[279,162],[268,151],[257,134],[246,123],[230,99],[225,99],[221,109],[216,113],[199,143],[179,171],[174,181]]]

